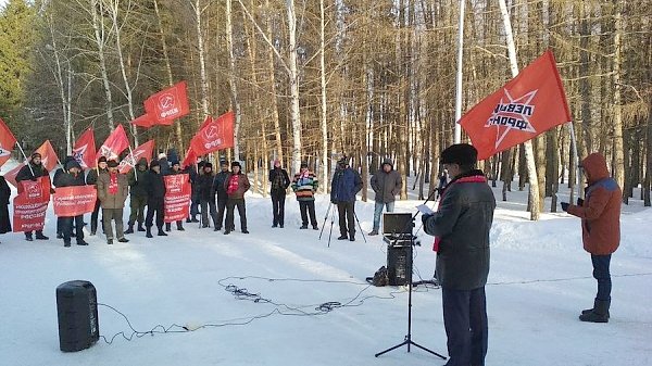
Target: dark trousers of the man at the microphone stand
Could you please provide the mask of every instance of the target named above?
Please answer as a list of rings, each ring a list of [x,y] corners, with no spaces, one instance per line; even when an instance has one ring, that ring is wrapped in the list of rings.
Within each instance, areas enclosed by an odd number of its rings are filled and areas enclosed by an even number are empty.
[[[485,288],[441,288],[443,326],[448,337],[447,366],[485,365],[487,355],[487,299]]]

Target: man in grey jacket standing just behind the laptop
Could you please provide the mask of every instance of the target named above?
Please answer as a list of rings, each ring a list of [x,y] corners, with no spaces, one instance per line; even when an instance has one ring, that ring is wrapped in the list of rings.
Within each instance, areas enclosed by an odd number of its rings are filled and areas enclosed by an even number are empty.
[[[403,179],[401,174],[394,171],[391,159],[385,159],[380,169],[372,176],[371,182],[372,189],[376,193],[376,205],[374,207],[374,229],[369,236],[375,236],[378,235],[380,228],[383,207],[386,207],[387,212],[393,212],[396,195],[403,188]]]

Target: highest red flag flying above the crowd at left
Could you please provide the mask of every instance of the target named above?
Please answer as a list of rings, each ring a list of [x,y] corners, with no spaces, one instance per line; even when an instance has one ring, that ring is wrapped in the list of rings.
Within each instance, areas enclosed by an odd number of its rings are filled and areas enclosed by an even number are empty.
[[[145,111],[151,114],[159,125],[170,126],[175,118],[190,113],[186,81],[161,90],[145,101]]]

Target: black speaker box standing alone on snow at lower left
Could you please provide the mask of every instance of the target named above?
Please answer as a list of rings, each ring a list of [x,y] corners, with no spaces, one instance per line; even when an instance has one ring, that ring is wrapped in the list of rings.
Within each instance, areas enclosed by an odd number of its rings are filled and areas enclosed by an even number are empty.
[[[61,351],[82,351],[100,338],[98,295],[89,281],[61,283],[57,288],[57,313]]]

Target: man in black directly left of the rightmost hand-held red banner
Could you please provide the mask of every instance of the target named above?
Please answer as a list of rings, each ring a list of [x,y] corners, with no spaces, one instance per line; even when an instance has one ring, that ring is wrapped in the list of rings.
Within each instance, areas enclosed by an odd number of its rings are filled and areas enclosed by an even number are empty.
[[[147,230],[146,237],[152,237],[152,225],[154,214],[156,215],[156,228],[159,228],[159,236],[166,237],[167,234],[163,231],[163,199],[165,197],[165,181],[163,175],[161,175],[161,165],[159,161],[153,160],[150,163],[150,169],[142,177],[142,185],[147,191],[147,217],[145,219],[145,228]]]

